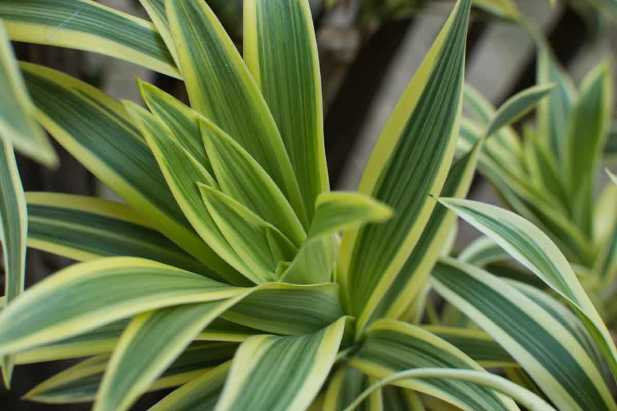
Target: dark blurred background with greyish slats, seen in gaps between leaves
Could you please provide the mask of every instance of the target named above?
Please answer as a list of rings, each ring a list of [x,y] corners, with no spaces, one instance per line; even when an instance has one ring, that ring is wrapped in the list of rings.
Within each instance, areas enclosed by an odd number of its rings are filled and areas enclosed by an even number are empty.
[[[147,18],[137,0],[100,0],[106,6]],[[207,0],[241,46],[241,1]],[[585,0],[515,0],[521,14],[544,31],[560,62],[578,83],[603,57],[616,60],[617,30],[613,16]],[[452,8],[447,0],[311,0],[320,49],[325,107],[326,155],[335,189],[355,190],[379,131],[412,78]],[[1,6],[0,6],[1,7]],[[240,47],[241,49],[241,47]],[[128,62],[87,52],[15,43],[21,60],[40,63],[77,76],[118,99],[141,102],[135,77],[154,83],[187,101],[183,83]],[[493,104],[535,83],[535,48],[519,26],[474,10],[467,40],[466,79]],[[613,68],[617,61],[613,62]],[[613,136],[614,137],[614,136]],[[616,139],[613,148],[617,152]],[[98,195],[115,199],[107,187],[56,145],[61,166],[50,171],[19,157],[25,190]],[[476,177],[470,197],[499,203],[492,188]],[[459,244],[477,234],[463,227]],[[64,258],[28,250],[27,286],[70,264]],[[41,405],[19,397],[73,362],[15,368],[10,392],[0,388],[0,410],[88,410],[90,404]],[[159,392],[144,397],[135,410],[146,409]]]

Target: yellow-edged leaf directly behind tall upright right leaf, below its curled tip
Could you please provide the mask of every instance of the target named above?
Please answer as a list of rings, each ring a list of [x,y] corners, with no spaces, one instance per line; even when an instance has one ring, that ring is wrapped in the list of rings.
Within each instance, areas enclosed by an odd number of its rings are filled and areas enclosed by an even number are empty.
[[[481,149],[482,140],[477,142],[469,153],[452,166],[441,190],[442,195],[449,197],[465,197],[467,195],[471,181],[473,181]],[[443,207],[437,207],[433,210],[420,240],[413,248],[412,254],[405,261],[391,287],[379,301],[375,311],[366,311],[371,314],[371,319],[380,317],[400,318],[413,301],[418,298],[418,293],[426,284],[431,267],[442,254],[442,247],[455,221],[456,215],[447,212]],[[360,320],[362,320],[362,317]]]

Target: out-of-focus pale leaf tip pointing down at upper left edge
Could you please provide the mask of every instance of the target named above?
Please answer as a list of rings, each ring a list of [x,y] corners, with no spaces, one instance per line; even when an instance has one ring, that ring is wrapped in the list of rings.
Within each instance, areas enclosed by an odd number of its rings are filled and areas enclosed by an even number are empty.
[[[0,92],[3,96],[0,103],[0,138],[10,142],[20,153],[33,160],[47,166],[56,166],[58,157],[45,132],[34,120],[34,105],[23,84],[2,20],[0,20]]]

